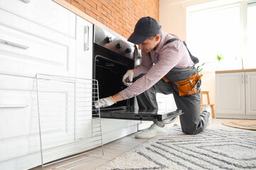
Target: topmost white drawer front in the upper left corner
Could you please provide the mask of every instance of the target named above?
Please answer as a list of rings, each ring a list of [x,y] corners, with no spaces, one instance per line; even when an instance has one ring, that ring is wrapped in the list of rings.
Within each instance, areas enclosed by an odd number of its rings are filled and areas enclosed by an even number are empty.
[[[0,8],[75,38],[75,13],[51,0],[1,0]],[[2,18],[9,20],[6,16]],[[9,20],[9,22],[13,21]]]

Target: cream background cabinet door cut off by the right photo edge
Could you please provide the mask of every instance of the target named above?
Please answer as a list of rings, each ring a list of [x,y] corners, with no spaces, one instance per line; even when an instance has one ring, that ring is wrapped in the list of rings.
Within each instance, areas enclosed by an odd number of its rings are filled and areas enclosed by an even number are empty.
[[[256,72],[245,73],[246,115],[256,115]]]

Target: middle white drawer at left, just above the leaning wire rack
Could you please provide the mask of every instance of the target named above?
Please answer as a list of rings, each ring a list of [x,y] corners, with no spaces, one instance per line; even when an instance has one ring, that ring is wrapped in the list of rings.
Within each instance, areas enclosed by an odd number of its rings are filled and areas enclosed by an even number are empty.
[[[0,72],[69,75],[75,72],[75,39],[0,9]]]

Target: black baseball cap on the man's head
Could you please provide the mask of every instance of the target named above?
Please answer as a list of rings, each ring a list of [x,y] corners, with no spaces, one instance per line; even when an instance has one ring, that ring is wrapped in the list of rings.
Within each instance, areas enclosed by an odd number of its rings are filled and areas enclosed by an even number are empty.
[[[141,44],[146,38],[159,34],[160,29],[161,26],[156,19],[149,16],[142,17],[137,22],[134,32],[129,36],[128,41],[137,45]]]

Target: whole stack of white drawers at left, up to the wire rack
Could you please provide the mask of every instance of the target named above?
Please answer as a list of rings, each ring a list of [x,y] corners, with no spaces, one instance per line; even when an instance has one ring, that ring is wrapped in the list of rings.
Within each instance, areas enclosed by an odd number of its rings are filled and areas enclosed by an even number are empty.
[[[50,0],[0,1],[0,16],[0,169],[28,169],[41,164],[35,77],[75,77],[76,18]]]

